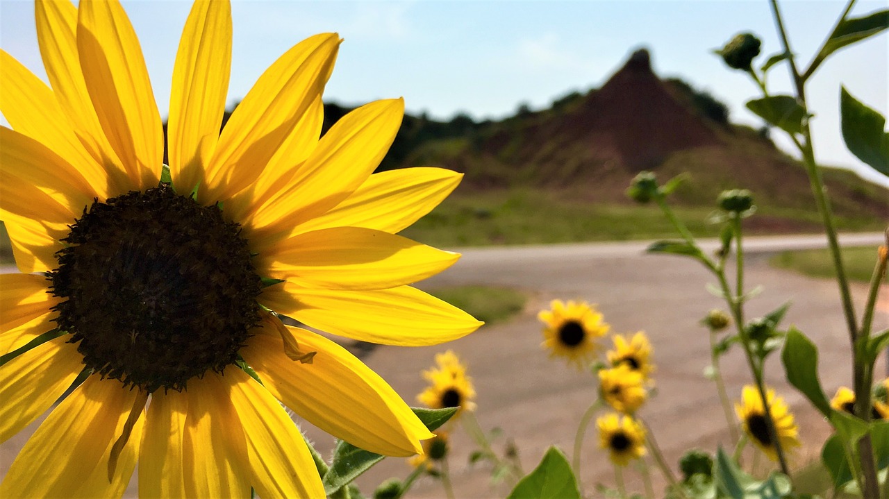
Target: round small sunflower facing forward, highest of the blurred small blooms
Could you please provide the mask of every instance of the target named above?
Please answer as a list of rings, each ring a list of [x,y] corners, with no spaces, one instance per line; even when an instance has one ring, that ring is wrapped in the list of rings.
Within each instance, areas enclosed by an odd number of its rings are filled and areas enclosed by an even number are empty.
[[[565,357],[577,368],[585,368],[599,349],[597,338],[608,334],[608,324],[587,302],[553,300],[549,308],[537,315],[546,324],[543,346],[550,357]]]

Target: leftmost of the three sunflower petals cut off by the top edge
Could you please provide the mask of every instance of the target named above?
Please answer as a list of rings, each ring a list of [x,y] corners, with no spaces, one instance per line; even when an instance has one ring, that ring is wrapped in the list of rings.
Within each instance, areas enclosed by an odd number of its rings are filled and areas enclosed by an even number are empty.
[[[109,178],[109,193],[130,190],[132,183],[126,178],[117,154],[108,143],[86,91],[84,74],[80,70],[80,59],[77,56],[76,7],[70,2],[37,0],[35,16],[37,41],[46,75],[71,128],[92,156],[94,164],[100,169],[104,167]],[[84,176],[91,180],[101,177],[100,171],[86,170]]]

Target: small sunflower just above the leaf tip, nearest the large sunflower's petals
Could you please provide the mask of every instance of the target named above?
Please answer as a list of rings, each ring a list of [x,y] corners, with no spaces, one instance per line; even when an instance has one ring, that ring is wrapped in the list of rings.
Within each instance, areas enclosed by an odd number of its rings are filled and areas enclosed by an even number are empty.
[[[428,387],[417,395],[417,400],[428,408],[458,408],[453,419],[464,410],[476,410],[476,389],[472,377],[467,376],[466,366],[456,353],[448,350],[436,353],[437,368],[423,371]]]

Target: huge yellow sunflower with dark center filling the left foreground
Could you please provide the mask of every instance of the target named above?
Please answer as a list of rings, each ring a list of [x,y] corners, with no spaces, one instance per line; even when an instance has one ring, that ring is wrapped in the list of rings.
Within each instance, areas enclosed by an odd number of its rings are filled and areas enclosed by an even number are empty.
[[[220,133],[228,2],[197,2],[173,70],[169,170],[139,42],[116,2],[37,2],[52,88],[0,51],[0,441],[85,381],[28,440],[0,496],[323,496],[280,400],[350,443],[421,452],[404,400],[315,329],[434,345],[479,322],[413,289],[457,255],[395,235],[460,180],[373,174],[400,99],[319,139],[340,38],[260,76]],[[272,312],[274,311],[274,312]],[[244,370],[255,370],[262,384]]]

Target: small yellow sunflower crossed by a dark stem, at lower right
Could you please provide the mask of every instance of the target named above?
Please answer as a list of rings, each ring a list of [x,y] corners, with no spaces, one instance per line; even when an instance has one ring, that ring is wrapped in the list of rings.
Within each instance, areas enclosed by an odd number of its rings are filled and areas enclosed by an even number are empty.
[[[781,448],[787,452],[790,448],[799,447],[797,424],[794,423],[793,415],[790,414],[787,404],[784,403],[781,397],[776,397],[774,390],[771,388],[766,389],[765,397],[769,403],[769,412],[772,413],[775,432],[778,433],[778,441],[781,442]],[[775,450],[772,435],[769,434],[765,419],[763,399],[759,396],[756,386],[748,384],[744,387],[741,392],[741,403],[736,403],[734,410],[741,420],[741,428],[748,434],[750,440],[769,459],[778,461],[778,452]]]

